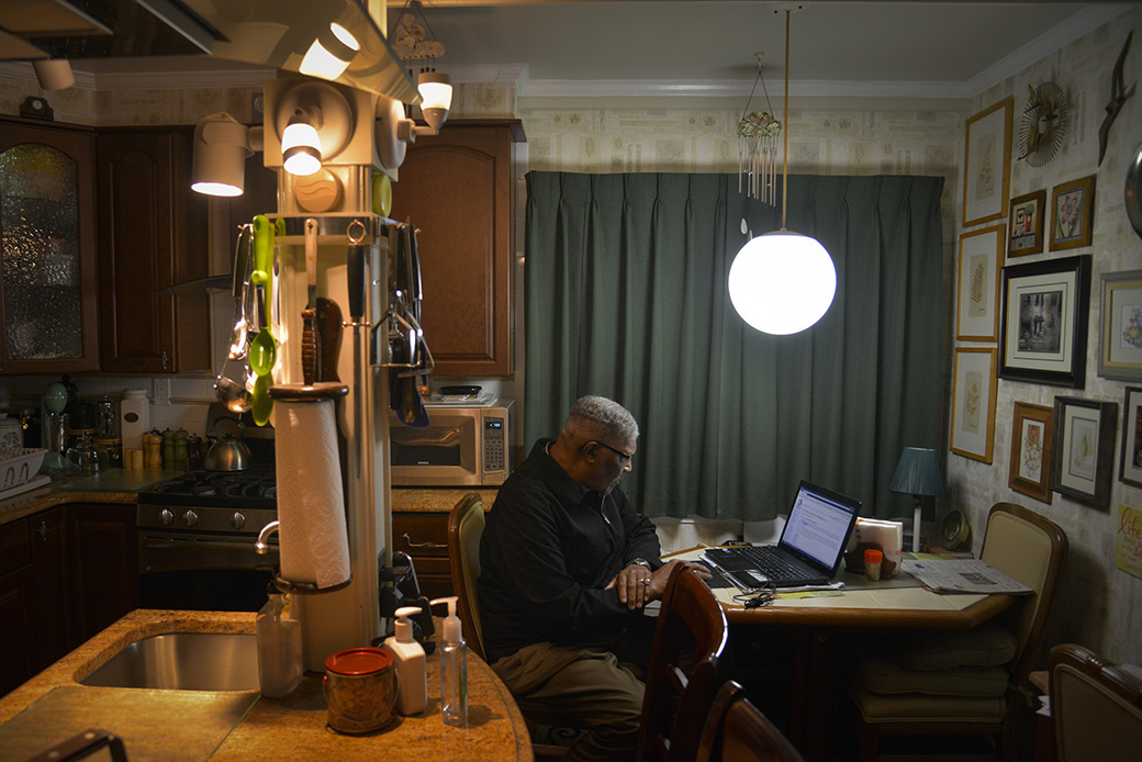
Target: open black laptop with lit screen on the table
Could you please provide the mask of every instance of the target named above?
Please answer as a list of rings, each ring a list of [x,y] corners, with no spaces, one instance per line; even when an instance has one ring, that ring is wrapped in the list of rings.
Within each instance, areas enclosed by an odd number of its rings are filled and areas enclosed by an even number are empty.
[[[711,547],[701,560],[745,592],[827,585],[837,573],[860,500],[802,481],[777,545]]]

